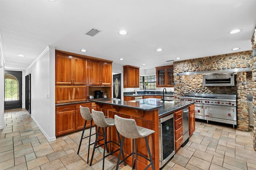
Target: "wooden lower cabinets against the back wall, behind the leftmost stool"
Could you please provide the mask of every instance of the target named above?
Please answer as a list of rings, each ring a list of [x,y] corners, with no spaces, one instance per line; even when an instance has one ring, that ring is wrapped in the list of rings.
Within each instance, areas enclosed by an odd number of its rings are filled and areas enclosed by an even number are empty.
[[[56,106],[56,136],[66,135],[84,128],[85,120],[80,114],[80,105],[89,107],[90,111],[91,108],[96,109],[96,104],[91,102]],[[90,127],[90,121],[86,123],[87,127]]]

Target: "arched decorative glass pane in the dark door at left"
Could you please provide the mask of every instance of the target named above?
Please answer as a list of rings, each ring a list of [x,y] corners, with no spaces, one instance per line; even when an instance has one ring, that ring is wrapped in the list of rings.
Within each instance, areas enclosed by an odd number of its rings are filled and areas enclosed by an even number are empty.
[[[5,73],[4,89],[4,101],[19,100],[19,83],[12,74]]]

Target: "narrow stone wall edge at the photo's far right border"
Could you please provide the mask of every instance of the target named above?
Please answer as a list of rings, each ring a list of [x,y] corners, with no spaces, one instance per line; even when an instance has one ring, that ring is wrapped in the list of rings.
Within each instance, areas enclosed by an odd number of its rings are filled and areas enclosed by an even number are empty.
[[[253,67],[252,67],[252,93],[253,93],[253,117],[254,117],[254,150],[256,150],[256,28],[252,36],[252,56],[253,56]]]

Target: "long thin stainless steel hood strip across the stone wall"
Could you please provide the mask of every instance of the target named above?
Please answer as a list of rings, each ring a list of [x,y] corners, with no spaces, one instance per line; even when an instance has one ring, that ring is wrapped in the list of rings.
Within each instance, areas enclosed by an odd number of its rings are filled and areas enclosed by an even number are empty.
[[[222,70],[188,71],[188,72],[180,72],[178,74],[182,76],[182,75],[193,75],[193,74],[222,74],[222,73],[236,73],[236,72],[248,72],[248,71],[252,71],[252,67],[230,68],[230,69],[222,69]]]

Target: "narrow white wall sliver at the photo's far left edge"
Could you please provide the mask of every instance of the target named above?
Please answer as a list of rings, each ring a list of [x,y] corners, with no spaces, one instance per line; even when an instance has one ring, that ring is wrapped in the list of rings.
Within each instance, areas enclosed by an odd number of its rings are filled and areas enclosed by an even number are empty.
[[[4,129],[4,56],[0,53],[0,129]]]

